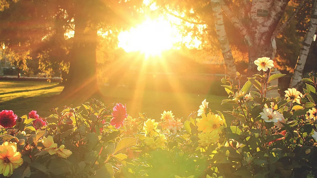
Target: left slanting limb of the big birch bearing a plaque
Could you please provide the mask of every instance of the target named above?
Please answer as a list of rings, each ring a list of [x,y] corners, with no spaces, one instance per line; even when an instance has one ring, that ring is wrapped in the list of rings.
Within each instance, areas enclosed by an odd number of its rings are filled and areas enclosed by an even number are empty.
[[[239,33],[243,36],[245,43],[248,46],[252,46],[251,36],[249,35],[248,29],[241,23],[241,21],[234,15],[234,13],[228,8],[228,6],[223,2],[220,1],[221,9],[224,14],[229,18],[231,23],[236,27]]]

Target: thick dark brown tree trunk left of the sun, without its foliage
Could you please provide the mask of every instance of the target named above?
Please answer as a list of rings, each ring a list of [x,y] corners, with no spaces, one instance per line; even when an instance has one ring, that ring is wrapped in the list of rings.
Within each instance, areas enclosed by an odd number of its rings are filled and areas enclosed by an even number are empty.
[[[75,8],[75,34],[70,67],[62,95],[83,100],[100,95],[96,76],[97,28],[82,1]]]

